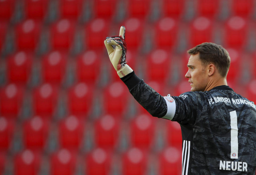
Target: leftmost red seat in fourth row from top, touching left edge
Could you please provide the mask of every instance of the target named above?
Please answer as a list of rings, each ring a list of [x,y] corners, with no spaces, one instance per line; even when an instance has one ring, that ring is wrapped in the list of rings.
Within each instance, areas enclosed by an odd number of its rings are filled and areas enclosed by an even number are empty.
[[[0,113],[17,118],[23,104],[24,88],[14,83],[0,88]]]

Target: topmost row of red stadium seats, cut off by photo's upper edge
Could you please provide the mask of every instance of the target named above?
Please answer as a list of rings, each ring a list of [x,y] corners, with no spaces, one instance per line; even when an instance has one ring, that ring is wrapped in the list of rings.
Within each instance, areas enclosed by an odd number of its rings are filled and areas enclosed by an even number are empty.
[[[4,0],[0,2],[0,20],[10,20],[15,12],[15,5],[21,2],[23,6],[24,16],[26,18],[33,18],[43,20],[49,13],[49,6],[51,1],[49,0]],[[84,6],[90,6],[91,15],[101,18],[111,18],[119,10],[119,4],[116,0],[95,0],[95,1],[83,1],[83,0],[57,0],[57,9],[59,15],[62,18],[78,19],[83,13]],[[159,3],[159,2],[158,2]],[[159,11],[162,11],[165,16],[179,17],[185,13],[187,1],[185,0],[162,0],[159,3]],[[195,8],[198,15],[204,15],[209,17],[216,16],[220,11],[223,4],[219,0],[197,0],[194,2],[193,8]],[[153,1],[147,0],[129,0],[125,1],[127,7],[126,13],[130,17],[145,17],[151,13],[151,6]],[[249,16],[254,12],[253,0],[232,0],[227,5],[230,8],[231,14]],[[111,9],[111,10],[109,10]],[[56,10],[56,8],[54,9]],[[87,8],[87,10],[90,10]],[[123,9],[122,9],[123,10]]]

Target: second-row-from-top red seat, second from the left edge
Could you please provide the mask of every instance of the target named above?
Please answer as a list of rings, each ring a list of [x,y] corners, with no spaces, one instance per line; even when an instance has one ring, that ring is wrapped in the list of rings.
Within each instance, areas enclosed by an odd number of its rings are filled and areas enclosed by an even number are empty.
[[[39,43],[41,32],[40,22],[33,19],[27,19],[17,25],[16,47],[18,50],[34,51]]]

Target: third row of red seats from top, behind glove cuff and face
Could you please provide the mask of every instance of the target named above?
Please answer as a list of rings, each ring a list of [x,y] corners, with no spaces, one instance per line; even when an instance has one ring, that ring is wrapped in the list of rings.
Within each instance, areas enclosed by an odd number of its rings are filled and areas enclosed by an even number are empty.
[[[243,72],[243,62],[242,54],[237,49],[226,48],[229,52],[231,58],[231,66],[227,74],[229,82],[236,82],[241,78]],[[250,55],[250,62],[256,65],[255,53]],[[179,75],[181,80],[186,80],[185,74],[187,72],[187,61],[189,58],[188,54],[178,55],[180,57],[182,67],[179,69]],[[139,60],[138,60],[139,59]],[[127,62],[130,67],[136,70],[137,67],[143,69],[143,66],[147,67],[145,69],[145,76],[143,77],[147,81],[156,81],[159,83],[166,82],[170,79],[170,75],[173,73],[170,66],[173,65],[175,56],[172,52],[166,49],[155,49],[152,50],[145,58],[141,59],[138,57],[138,52],[128,50],[127,52]],[[56,85],[61,85],[68,76],[67,67],[69,56],[66,52],[52,51],[40,58],[39,61],[34,59],[34,55],[29,52],[16,52],[6,57],[5,61],[5,79],[7,83],[17,83],[26,85],[32,76],[33,66],[38,65],[39,70],[38,76],[40,76],[42,83],[52,83]],[[87,84],[96,84],[101,78],[103,73],[103,63],[108,60],[107,53],[95,50],[86,50],[79,54],[77,57],[72,59],[74,62],[75,78],[78,82],[86,82]],[[143,65],[137,65],[139,62],[145,62]],[[39,63],[39,64],[38,64]],[[256,74],[255,69],[251,71],[251,77],[255,78],[253,75]],[[109,74],[112,82],[120,81],[114,69],[111,69]]]

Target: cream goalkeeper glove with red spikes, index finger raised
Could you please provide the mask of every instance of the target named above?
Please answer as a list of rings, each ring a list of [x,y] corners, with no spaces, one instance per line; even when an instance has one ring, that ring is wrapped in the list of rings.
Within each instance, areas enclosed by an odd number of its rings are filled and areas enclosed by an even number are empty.
[[[133,72],[126,63],[127,44],[125,41],[125,27],[121,26],[119,36],[106,37],[104,44],[109,54],[109,59],[120,78]],[[112,45],[115,45],[115,49]]]

